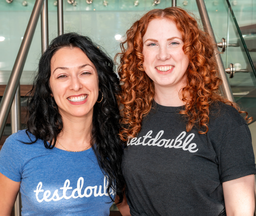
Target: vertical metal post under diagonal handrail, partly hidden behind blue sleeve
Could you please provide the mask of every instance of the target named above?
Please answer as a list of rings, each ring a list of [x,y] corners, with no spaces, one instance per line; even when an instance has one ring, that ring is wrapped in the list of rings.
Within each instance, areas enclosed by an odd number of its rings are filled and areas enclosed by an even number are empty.
[[[17,133],[21,130],[21,91],[20,84],[18,85],[16,94],[14,96],[11,106],[11,133]],[[21,216],[21,194],[18,193],[14,204],[14,215]]]

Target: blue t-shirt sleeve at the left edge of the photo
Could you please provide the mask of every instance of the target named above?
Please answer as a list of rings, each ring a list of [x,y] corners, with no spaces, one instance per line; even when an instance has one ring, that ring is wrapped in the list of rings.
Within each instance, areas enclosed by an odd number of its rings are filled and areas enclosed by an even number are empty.
[[[19,155],[18,140],[8,137],[0,151],[0,173],[14,182],[21,182],[22,159]]]

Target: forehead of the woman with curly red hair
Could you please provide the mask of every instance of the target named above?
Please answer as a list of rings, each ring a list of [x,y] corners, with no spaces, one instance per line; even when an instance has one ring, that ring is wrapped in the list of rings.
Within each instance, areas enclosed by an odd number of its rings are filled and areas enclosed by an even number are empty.
[[[143,36],[143,41],[157,38],[182,38],[174,21],[169,19],[154,19],[149,22],[147,31]]]

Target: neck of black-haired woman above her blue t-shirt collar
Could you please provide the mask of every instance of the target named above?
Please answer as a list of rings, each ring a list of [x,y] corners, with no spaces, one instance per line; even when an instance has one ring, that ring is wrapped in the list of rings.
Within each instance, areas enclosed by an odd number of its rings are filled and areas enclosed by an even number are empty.
[[[91,143],[93,110],[84,117],[66,116],[61,114],[63,129],[57,139],[63,147],[70,151],[82,151]],[[64,148],[56,142],[56,148]]]

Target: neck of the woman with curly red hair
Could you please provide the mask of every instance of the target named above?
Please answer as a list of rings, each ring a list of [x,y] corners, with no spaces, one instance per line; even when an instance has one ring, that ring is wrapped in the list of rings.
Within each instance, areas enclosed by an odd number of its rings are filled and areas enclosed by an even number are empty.
[[[175,87],[164,87],[155,85],[155,96],[154,100],[156,103],[163,106],[182,106],[184,102],[182,98],[182,87],[184,85]]]

